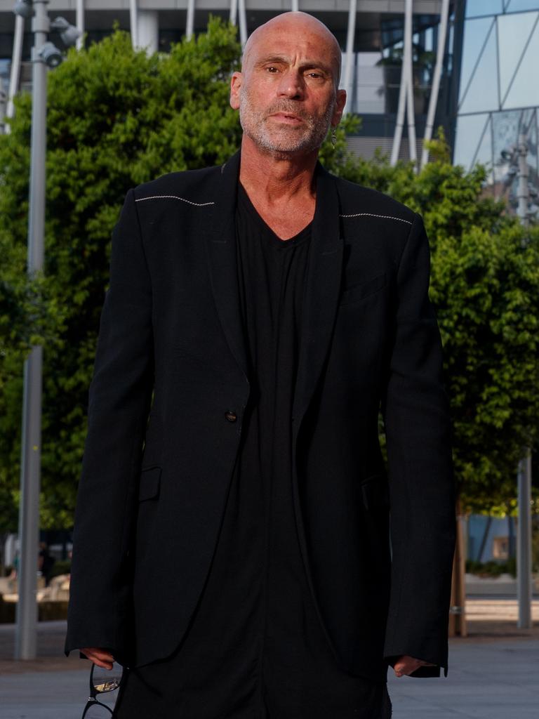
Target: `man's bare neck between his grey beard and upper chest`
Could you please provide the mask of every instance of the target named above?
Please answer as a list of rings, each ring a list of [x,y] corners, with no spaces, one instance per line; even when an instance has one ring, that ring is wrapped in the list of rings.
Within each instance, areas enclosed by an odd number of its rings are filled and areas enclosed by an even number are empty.
[[[314,198],[317,160],[318,150],[290,157],[262,152],[244,135],[239,181],[252,199],[264,201],[267,206]]]

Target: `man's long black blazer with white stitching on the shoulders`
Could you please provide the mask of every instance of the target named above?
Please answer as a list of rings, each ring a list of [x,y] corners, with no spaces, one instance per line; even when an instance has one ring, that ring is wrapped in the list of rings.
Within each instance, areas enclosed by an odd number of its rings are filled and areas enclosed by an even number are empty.
[[[89,389],[66,654],[163,658],[201,594],[249,401],[238,173],[239,153],[127,193]],[[454,495],[423,221],[321,165],[316,183],[292,410],[308,583],[344,671],[379,679],[399,654],[447,669]]]

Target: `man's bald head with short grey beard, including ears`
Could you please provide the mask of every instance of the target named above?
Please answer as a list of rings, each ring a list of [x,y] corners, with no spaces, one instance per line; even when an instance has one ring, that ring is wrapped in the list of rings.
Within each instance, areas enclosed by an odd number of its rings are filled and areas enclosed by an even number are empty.
[[[336,91],[338,48],[313,24],[264,28],[247,46],[231,82],[231,106],[262,151],[295,155],[318,149],[346,100]]]

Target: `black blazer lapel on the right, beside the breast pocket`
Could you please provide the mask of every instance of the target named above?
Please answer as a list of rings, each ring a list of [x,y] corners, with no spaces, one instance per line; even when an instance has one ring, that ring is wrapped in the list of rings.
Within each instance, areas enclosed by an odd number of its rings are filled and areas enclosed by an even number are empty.
[[[292,408],[295,437],[328,353],[343,267],[344,240],[339,232],[336,183],[320,163],[316,172],[316,209],[308,255],[300,356]]]

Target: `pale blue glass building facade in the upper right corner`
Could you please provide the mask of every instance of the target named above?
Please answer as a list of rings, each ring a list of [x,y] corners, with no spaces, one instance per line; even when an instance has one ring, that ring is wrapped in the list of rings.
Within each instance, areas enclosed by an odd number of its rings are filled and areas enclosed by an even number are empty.
[[[537,214],[539,0],[467,0],[453,161],[488,168],[488,188],[516,207],[516,150],[527,147]]]

